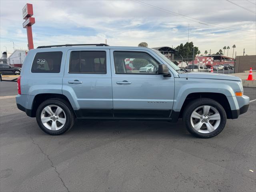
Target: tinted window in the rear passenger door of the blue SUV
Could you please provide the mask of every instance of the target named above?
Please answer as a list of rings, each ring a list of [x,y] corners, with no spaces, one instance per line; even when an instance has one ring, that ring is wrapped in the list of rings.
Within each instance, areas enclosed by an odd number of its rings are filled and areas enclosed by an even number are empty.
[[[106,52],[72,51],[69,73],[106,74]]]

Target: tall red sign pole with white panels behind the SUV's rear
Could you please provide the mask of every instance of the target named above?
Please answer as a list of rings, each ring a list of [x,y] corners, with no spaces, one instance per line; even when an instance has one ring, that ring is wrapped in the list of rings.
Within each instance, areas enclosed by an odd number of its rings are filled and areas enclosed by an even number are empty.
[[[33,36],[32,36],[32,25],[35,23],[35,18],[33,16],[33,6],[32,4],[27,3],[22,9],[23,19],[25,22],[23,23],[23,28],[27,29],[28,36],[28,50],[34,49],[33,44]]]

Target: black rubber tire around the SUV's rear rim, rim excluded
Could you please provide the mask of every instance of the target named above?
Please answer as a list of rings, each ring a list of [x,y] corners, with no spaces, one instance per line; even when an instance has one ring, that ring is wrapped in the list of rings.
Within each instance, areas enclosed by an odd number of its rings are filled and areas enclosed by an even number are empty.
[[[44,126],[44,124],[42,123],[41,112],[48,105],[59,106],[60,108],[62,108],[62,110],[66,114],[66,122],[65,122],[64,126],[62,128],[60,128],[59,130],[50,130],[50,129],[46,128]],[[72,106],[70,106],[70,104],[68,102],[66,102],[65,100],[60,99],[60,98],[54,98],[54,99],[45,100],[38,106],[38,108],[36,110],[36,121],[37,121],[38,126],[45,133],[50,134],[50,135],[60,135],[60,134],[64,134],[65,132],[70,130],[70,128],[72,128],[72,126],[74,125],[74,121],[75,121],[75,115],[74,115]]]

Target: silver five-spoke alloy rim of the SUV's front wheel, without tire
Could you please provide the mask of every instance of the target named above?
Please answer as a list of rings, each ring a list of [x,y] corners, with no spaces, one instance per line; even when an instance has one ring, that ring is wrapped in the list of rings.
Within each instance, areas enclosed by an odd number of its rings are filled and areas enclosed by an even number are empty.
[[[196,108],[190,116],[192,127],[200,133],[215,131],[220,125],[220,120],[221,117],[218,110],[209,105]]]

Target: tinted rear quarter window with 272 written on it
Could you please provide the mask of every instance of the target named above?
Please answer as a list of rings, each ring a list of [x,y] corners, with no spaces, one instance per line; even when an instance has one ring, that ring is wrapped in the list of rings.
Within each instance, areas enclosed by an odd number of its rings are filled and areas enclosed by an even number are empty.
[[[62,52],[37,53],[31,68],[32,73],[59,73]]]

